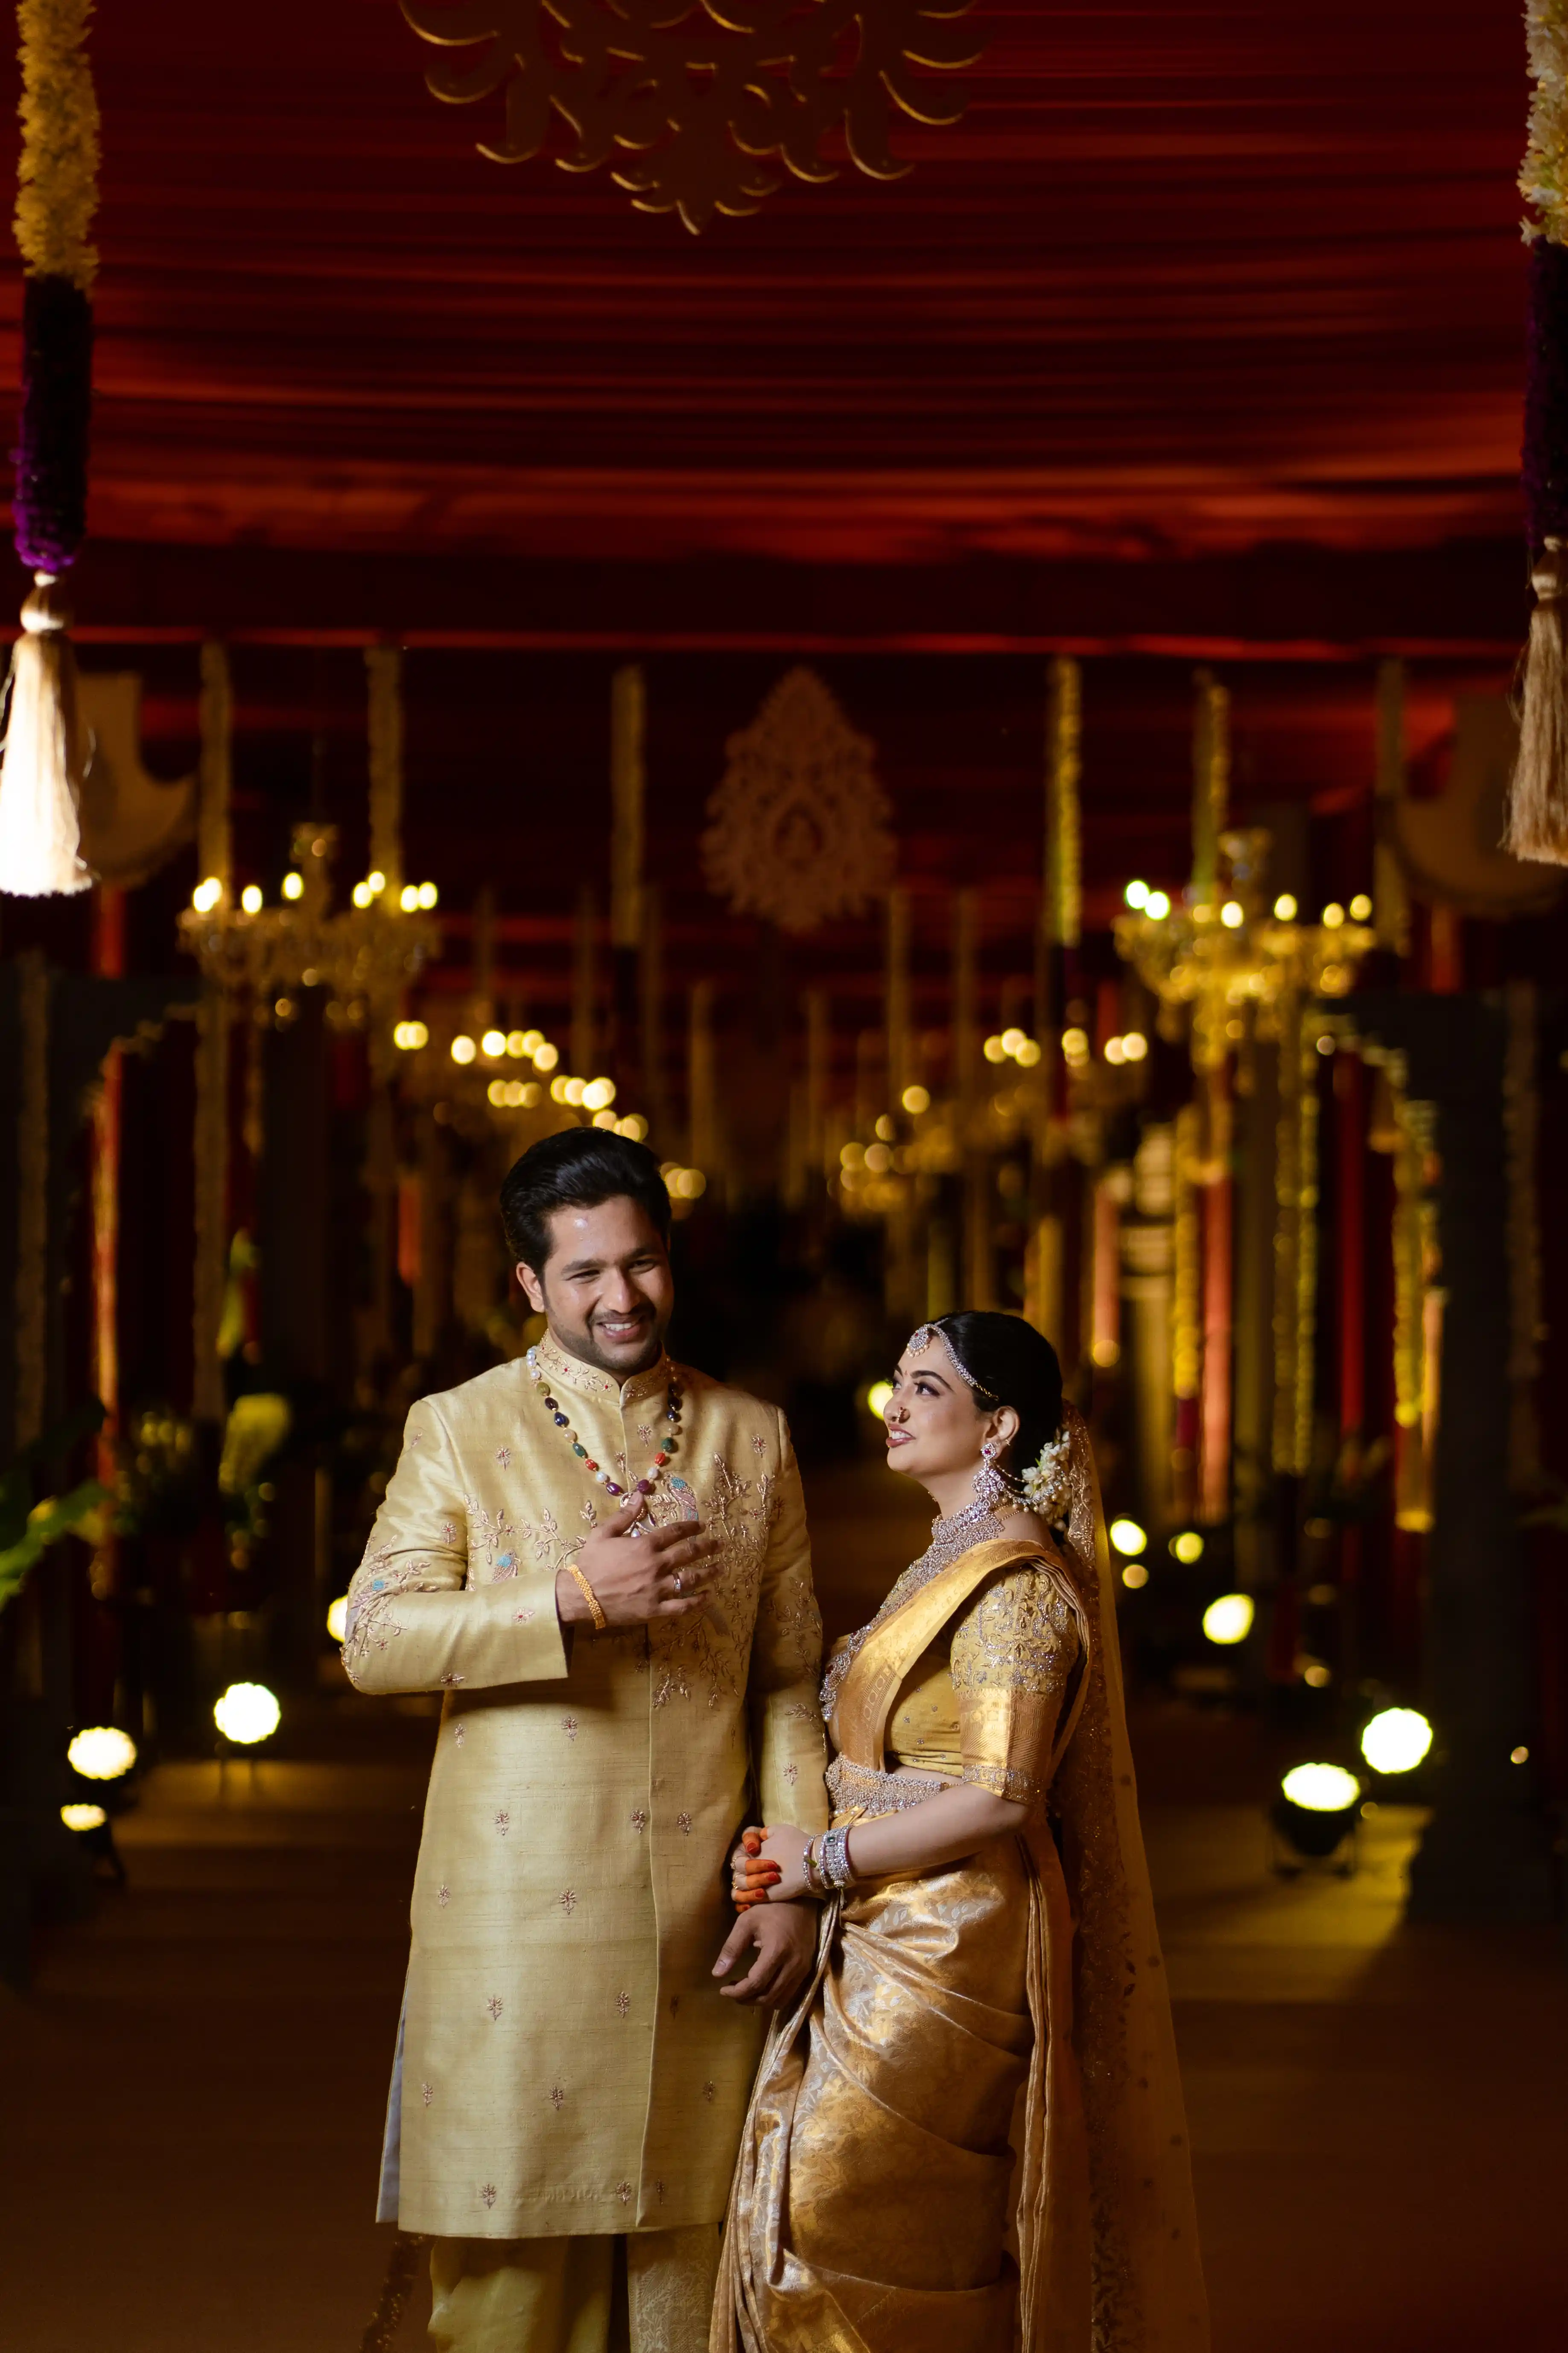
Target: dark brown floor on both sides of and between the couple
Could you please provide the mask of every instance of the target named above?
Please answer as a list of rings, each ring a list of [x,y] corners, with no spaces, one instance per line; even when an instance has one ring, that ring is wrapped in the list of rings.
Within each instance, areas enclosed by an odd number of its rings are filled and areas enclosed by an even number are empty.
[[[912,1548],[856,1504],[818,1497],[839,1624]],[[7,2348],[357,2346],[430,1718],[350,1694],[334,1715],[327,1762],[155,1774],[129,1892],[0,1993]],[[1246,1732],[1140,1734],[1215,2353],[1556,2353],[1556,1932],[1401,1925],[1406,1809],[1368,1824],[1354,1880],[1281,1882],[1227,1795]]]

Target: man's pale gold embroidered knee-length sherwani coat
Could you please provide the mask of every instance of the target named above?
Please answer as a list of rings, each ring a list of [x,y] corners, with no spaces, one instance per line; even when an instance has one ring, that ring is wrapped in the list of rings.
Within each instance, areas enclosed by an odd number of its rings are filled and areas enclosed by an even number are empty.
[[[670,1367],[616,1384],[552,1341],[541,1369],[630,1485]],[[411,1412],[348,1593],[362,1692],[444,1689],[388,2115],[395,2214],[437,2238],[717,2221],[762,2021],[710,1977],[726,1852],[762,1819],[825,1826],[820,1621],[790,1433],[679,1369],[656,1520],[719,1537],[712,1605],[567,1635],[557,1569],[616,1504],[527,1362]],[[386,2202],[383,2202],[386,2212]]]

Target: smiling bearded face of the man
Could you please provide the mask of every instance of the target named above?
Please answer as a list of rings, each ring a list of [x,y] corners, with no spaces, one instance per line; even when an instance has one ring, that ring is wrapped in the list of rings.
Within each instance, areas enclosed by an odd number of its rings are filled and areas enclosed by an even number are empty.
[[[628,1193],[592,1209],[550,1209],[550,1257],[520,1266],[529,1306],[567,1355],[630,1381],[658,1362],[675,1306],[670,1257],[649,1212]]]

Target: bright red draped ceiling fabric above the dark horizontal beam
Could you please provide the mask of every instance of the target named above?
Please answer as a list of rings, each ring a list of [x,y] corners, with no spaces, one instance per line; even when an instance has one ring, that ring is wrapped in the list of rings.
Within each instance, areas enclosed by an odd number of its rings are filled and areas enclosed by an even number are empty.
[[[99,9],[94,536],[936,562],[1514,532],[1516,9],[976,28],[910,179],[788,184],[693,240],[607,172],[482,160],[501,99],[440,106],[393,0]],[[12,264],[5,386],[16,320]]]

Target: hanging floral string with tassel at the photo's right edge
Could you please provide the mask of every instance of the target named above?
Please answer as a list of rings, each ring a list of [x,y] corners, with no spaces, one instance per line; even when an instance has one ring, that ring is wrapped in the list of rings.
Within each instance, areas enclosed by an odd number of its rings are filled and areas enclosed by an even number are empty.
[[[1523,504],[1530,645],[1505,847],[1568,864],[1568,0],[1528,0],[1530,134],[1519,188],[1530,207]]]

